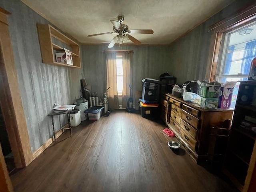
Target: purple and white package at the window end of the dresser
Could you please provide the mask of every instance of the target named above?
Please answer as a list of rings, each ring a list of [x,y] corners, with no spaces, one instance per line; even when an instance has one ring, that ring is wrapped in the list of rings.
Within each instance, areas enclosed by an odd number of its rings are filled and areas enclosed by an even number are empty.
[[[220,88],[218,108],[230,108],[236,82],[225,82]]]

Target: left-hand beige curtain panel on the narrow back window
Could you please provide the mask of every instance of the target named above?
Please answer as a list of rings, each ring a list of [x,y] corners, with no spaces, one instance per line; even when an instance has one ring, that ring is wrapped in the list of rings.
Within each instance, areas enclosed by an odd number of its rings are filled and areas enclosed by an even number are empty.
[[[108,107],[110,110],[118,109],[118,94],[116,80],[116,53],[106,53],[106,70],[107,70],[107,87],[108,90]]]

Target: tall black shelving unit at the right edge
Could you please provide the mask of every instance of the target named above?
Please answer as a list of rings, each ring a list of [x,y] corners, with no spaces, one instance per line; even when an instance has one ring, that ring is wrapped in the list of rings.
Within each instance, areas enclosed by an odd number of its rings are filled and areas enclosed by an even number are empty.
[[[240,82],[224,163],[224,173],[240,191],[247,191],[256,163],[256,133],[241,124],[246,117],[256,120],[255,100],[256,82]],[[254,124],[252,120],[247,122]]]

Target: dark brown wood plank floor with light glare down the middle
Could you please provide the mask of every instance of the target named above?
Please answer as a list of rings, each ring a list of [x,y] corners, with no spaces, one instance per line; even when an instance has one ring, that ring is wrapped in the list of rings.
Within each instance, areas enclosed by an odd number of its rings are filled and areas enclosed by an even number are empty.
[[[112,112],[62,134],[28,167],[12,176],[16,192],[235,191],[197,165],[181,148],[167,147],[164,125],[139,114]]]

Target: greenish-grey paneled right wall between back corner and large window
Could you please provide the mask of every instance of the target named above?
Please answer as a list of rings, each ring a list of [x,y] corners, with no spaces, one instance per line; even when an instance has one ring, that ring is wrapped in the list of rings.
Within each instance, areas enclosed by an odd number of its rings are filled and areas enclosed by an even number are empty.
[[[232,4],[216,13],[186,35],[172,42],[169,46],[169,65],[172,74],[177,77],[177,84],[185,81],[209,79],[212,53],[212,33],[207,32],[214,23],[223,20],[255,0],[234,1]],[[211,50],[212,49],[212,50]]]

